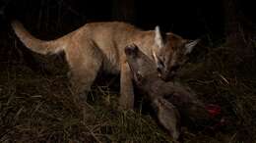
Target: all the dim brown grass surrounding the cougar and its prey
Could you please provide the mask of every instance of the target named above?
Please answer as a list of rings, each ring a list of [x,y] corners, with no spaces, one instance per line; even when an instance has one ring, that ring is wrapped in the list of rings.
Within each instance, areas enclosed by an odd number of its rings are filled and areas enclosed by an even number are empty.
[[[9,42],[3,40],[1,46],[17,51]],[[179,79],[205,102],[219,104],[225,124],[216,130],[184,128],[186,143],[255,142],[255,60],[237,64],[237,53],[220,45],[203,55],[199,52],[200,59],[188,64]],[[49,74],[32,71],[17,59],[10,54],[1,62],[0,142],[172,142],[141,106],[116,110],[118,77],[99,79],[84,103],[70,90],[66,68],[62,69],[65,62],[53,62],[57,68]]]

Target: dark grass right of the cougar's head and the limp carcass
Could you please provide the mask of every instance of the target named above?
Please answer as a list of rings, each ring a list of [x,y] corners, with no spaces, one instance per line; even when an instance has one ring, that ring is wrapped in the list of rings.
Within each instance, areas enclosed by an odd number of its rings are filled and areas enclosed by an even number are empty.
[[[221,105],[228,122],[224,130],[233,134],[229,142],[255,142],[256,61],[237,62],[238,56],[223,44],[206,54],[203,62],[190,64],[180,78],[205,102]]]

